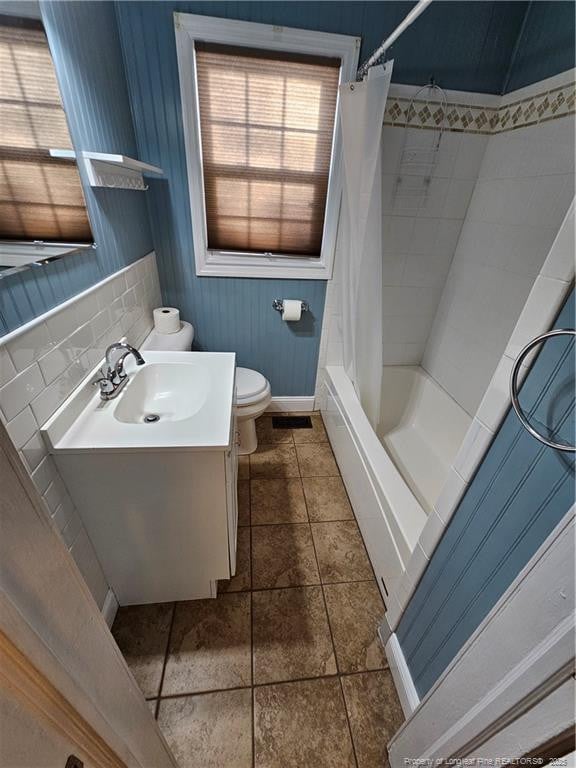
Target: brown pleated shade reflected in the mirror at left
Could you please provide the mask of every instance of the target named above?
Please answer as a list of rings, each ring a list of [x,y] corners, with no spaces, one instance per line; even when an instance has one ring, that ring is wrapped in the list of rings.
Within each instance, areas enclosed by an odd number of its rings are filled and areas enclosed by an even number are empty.
[[[92,241],[42,25],[0,16],[0,239]]]

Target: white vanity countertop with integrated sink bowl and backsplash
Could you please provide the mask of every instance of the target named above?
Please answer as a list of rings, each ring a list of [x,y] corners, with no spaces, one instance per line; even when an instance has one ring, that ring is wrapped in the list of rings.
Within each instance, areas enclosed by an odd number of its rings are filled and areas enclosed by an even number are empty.
[[[42,427],[51,453],[210,450],[230,444],[235,355],[143,351],[129,381],[103,401],[93,374]]]

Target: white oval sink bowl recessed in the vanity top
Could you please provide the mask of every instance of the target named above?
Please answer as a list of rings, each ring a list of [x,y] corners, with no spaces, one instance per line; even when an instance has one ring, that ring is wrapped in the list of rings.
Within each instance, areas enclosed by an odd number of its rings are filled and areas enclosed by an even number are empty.
[[[118,397],[114,417],[128,424],[157,424],[190,419],[208,399],[206,367],[183,363],[149,363],[132,375]]]

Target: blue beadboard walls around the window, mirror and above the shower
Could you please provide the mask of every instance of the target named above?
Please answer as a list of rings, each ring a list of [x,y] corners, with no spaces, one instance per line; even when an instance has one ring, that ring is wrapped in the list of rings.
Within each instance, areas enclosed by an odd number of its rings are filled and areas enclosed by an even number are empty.
[[[360,35],[364,58],[412,5],[312,0],[42,3],[76,148],[136,155],[160,165],[166,174],[146,194],[87,189],[98,250],[3,280],[0,333],[131,263],[151,250],[153,239],[164,300],[180,306],[195,323],[198,348],[236,350],[241,364],[271,379],[276,395],[311,394],[325,284],[194,275],[172,13],[178,9]],[[573,37],[565,34],[569,5],[436,0],[391,49],[394,79],[421,84],[434,76],[447,88],[499,93],[506,82],[517,87],[566,69],[574,56]],[[537,67],[533,50],[538,51]],[[312,316],[300,327],[280,323],[270,309],[277,296],[306,299]]]

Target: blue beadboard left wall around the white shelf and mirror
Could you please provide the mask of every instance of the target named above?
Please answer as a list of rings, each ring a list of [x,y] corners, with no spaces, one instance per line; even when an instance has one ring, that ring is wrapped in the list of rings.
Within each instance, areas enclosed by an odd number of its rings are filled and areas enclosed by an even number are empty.
[[[40,5],[75,149],[137,156],[113,5]],[[152,250],[145,193],[84,183],[84,194],[97,249],[4,278],[0,334]]]

